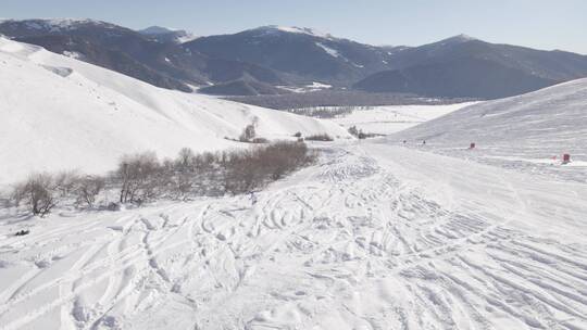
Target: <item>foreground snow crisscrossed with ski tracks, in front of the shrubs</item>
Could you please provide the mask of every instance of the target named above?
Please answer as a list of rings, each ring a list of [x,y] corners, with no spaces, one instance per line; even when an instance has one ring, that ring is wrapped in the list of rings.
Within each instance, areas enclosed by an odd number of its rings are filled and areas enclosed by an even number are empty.
[[[323,154],[254,205],[0,220],[0,329],[587,329],[585,185]]]

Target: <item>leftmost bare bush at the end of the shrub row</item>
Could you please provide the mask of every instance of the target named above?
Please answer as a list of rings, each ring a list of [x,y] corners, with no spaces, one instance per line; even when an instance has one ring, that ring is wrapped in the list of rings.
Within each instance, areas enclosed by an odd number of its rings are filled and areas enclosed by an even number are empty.
[[[16,205],[24,202],[34,215],[43,217],[58,204],[57,187],[52,175],[34,174],[25,182],[16,185],[12,199]]]

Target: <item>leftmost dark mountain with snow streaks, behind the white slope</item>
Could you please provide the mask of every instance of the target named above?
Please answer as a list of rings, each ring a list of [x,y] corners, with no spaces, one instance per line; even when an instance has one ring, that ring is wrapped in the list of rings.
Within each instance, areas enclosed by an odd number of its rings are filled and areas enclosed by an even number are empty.
[[[210,58],[177,45],[177,40],[162,42],[170,35],[152,37],[100,21],[8,20],[0,22],[0,34],[55,53],[75,54],[79,60],[167,89],[190,92],[190,86],[226,82],[243,76],[283,84],[268,68]]]

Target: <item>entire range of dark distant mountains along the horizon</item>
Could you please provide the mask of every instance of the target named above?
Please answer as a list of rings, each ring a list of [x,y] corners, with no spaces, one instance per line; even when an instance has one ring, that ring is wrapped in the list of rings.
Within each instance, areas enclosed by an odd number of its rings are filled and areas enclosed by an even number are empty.
[[[262,26],[196,38],[95,20],[0,21],[0,34],[149,84],[215,94],[274,94],[314,82],[367,92],[495,99],[587,77],[587,56],[466,35],[376,47],[304,27]],[[209,88],[211,87],[211,88]],[[212,88],[213,87],[213,88]]]

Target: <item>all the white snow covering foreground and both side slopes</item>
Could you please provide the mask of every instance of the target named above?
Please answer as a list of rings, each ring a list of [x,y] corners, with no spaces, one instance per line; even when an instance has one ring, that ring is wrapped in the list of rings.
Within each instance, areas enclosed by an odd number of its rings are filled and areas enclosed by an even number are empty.
[[[4,180],[233,147],[223,136],[253,117],[261,136],[346,137],[4,39],[0,71]],[[586,93],[576,80],[386,138],[315,142],[317,164],[253,196],[0,208],[0,330],[585,330]],[[563,150],[572,167],[545,163]]]

